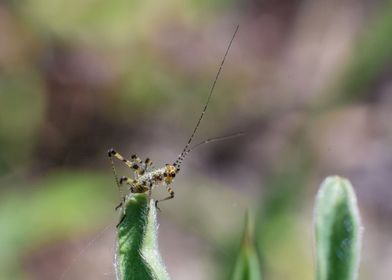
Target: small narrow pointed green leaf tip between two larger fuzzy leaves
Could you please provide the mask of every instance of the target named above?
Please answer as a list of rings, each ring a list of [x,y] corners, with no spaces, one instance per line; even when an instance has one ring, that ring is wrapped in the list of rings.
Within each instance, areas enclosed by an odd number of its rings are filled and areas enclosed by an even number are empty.
[[[253,242],[253,224],[246,216],[244,237],[234,266],[232,280],[260,280],[260,261]]]

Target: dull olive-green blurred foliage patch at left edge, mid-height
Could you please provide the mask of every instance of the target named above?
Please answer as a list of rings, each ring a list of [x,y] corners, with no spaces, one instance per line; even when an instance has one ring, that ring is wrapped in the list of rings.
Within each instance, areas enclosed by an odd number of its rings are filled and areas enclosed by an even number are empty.
[[[43,85],[35,72],[0,75],[0,175],[29,163],[44,108]]]

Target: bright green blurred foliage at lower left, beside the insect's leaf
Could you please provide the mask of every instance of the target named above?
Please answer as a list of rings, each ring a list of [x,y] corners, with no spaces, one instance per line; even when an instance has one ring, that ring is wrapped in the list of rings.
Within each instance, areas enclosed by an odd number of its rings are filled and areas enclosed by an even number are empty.
[[[110,179],[59,171],[8,186],[0,199],[0,278],[24,279],[19,265],[26,251],[110,221],[116,200]]]

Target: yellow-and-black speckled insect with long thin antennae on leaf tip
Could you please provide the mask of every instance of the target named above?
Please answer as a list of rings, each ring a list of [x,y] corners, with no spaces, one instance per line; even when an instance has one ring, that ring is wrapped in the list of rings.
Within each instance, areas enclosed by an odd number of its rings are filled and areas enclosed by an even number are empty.
[[[113,169],[113,174],[114,174],[114,179],[116,181],[116,185],[117,185],[117,187],[120,191],[120,195],[122,197],[122,201],[116,207],[116,210],[121,208],[126,201],[126,195],[124,195],[121,191],[121,185],[123,185],[124,183],[128,185],[129,192],[131,195],[135,194],[135,193],[148,192],[149,197],[151,197],[152,190],[154,187],[160,186],[160,185],[165,186],[169,195],[163,199],[159,199],[159,200],[155,201],[155,207],[158,208],[159,202],[174,198],[174,191],[170,187],[170,185],[173,182],[174,178],[177,176],[177,174],[180,172],[180,168],[181,168],[181,164],[182,164],[183,160],[190,152],[192,152],[192,150],[194,148],[196,148],[200,145],[206,144],[206,143],[213,142],[213,141],[237,137],[242,134],[242,133],[236,133],[236,134],[232,134],[229,136],[210,138],[210,139],[204,140],[194,146],[191,146],[192,140],[197,132],[197,129],[199,128],[199,125],[204,117],[204,114],[207,111],[207,107],[208,107],[208,104],[210,103],[212,93],[214,92],[216,82],[220,76],[223,64],[225,63],[227,54],[229,53],[231,44],[233,43],[235,35],[237,34],[238,28],[239,28],[239,26],[236,27],[236,29],[233,33],[233,36],[229,42],[229,45],[227,46],[226,52],[223,56],[223,59],[222,59],[221,64],[219,66],[219,70],[215,76],[214,82],[212,83],[207,101],[206,101],[204,108],[201,112],[201,115],[196,123],[196,126],[194,127],[193,132],[192,132],[191,136],[189,137],[188,142],[186,143],[184,149],[182,150],[181,154],[178,156],[178,158],[175,160],[174,163],[172,163],[172,164],[168,163],[165,165],[165,167],[162,167],[159,169],[153,169],[152,168],[152,161],[149,158],[146,158],[144,161],[142,161],[137,155],[132,155],[131,159],[128,160],[128,159],[124,158],[121,154],[116,152],[114,149],[109,149],[108,157],[109,157],[112,169]],[[119,179],[117,176],[115,166],[114,166],[113,158],[116,158],[116,159],[122,161],[125,165],[127,165],[130,169],[132,169],[133,173],[134,173],[133,178],[123,176]],[[121,224],[121,222],[124,220],[124,218],[125,218],[125,213],[123,214],[123,217],[120,220],[120,222],[117,224],[117,227]]]

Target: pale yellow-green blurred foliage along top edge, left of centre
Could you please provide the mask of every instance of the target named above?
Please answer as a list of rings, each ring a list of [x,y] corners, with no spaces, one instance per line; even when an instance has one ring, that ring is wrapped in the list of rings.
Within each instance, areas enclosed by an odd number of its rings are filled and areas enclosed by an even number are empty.
[[[105,38],[106,43],[121,44],[154,34],[152,30],[170,17],[192,21],[201,15],[206,16],[207,12],[212,13],[214,6],[222,8],[228,2],[25,0],[14,5],[26,22],[46,35],[82,41]],[[178,13],[179,10],[181,13]]]

